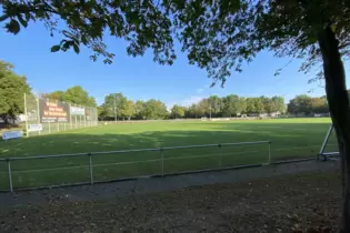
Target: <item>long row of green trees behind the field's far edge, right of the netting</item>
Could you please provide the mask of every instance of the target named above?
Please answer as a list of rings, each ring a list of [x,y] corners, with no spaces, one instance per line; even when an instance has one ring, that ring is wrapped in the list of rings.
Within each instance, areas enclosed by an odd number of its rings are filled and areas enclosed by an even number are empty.
[[[103,120],[154,120],[202,116],[239,116],[241,114],[273,114],[286,111],[282,97],[240,98],[236,94],[227,97],[211,95],[190,107],[174,104],[169,111],[160,100],[128,100],[122,93],[111,93],[99,107],[99,116]]]

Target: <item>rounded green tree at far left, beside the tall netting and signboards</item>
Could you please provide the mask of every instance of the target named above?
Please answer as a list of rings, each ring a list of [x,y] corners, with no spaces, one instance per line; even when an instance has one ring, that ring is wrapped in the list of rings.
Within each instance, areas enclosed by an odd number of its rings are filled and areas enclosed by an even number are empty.
[[[0,118],[6,123],[24,112],[23,94],[31,94],[27,79],[12,69],[12,64],[0,61]]]

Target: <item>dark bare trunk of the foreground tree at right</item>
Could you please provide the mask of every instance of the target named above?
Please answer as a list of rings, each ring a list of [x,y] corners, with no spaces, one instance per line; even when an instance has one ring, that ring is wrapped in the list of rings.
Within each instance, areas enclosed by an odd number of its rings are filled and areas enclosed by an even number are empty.
[[[346,233],[350,232],[350,108],[346,87],[346,73],[339,52],[339,41],[330,27],[319,32],[318,41],[323,59],[329,110],[341,155],[343,203],[339,232]]]

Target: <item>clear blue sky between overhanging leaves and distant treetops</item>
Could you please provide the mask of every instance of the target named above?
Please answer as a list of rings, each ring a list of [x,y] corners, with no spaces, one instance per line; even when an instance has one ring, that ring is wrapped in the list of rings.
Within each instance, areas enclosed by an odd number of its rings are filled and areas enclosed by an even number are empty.
[[[0,27],[3,27],[0,24]],[[282,95],[288,102],[297,94],[313,97],[324,94],[323,84],[308,84],[314,73],[298,72],[301,61],[290,58],[273,58],[271,52],[261,52],[253,62],[244,65],[242,73],[233,72],[221,88],[209,88],[211,80],[204,70],[188,64],[187,55],[177,52],[174,64],[159,65],[153,62],[152,52],[143,57],[128,57],[123,40],[108,37],[109,51],[116,54],[112,64],[102,59],[93,62],[91,52],[82,48],[79,54],[73,51],[51,53],[50,48],[61,40],[53,38],[39,23],[31,23],[17,36],[0,30],[0,60],[14,64],[14,71],[26,75],[32,90],[47,93],[81,85],[101,104],[109,93],[122,92],[131,100],[159,99],[168,107],[189,105],[210,94],[223,97]],[[280,75],[274,72],[289,63]]]

